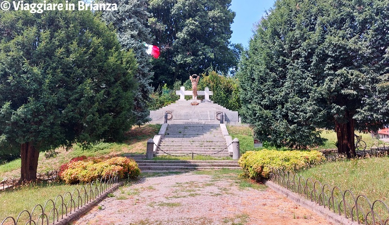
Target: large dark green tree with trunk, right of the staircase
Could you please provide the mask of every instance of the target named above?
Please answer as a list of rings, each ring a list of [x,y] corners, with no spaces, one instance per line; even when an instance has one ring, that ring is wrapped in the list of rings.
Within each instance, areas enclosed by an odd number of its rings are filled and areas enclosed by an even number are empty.
[[[276,146],[322,143],[355,156],[354,130],[388,125],[389,1],[277,0],[239,73],[242,117]]]

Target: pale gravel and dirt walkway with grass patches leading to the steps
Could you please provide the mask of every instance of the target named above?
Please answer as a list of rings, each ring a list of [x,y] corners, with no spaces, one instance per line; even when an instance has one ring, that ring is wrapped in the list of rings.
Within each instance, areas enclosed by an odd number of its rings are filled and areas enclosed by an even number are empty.
[[[143,174],[73,225],[331,225],[236,171]]]

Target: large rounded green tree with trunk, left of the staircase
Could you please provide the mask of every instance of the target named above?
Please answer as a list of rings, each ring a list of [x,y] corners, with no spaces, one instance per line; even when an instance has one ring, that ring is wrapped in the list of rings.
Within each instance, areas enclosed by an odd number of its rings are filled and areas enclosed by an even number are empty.
[[[20,150],[21,181],[41,151],[124,137],[136,69],[90,11],[0,11],[0,149]]]

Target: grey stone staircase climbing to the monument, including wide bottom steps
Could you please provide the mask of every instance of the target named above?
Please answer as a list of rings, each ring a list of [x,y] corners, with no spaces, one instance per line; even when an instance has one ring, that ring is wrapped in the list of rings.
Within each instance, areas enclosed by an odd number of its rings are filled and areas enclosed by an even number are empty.
[[[162,130],[162,128],[161,128]],[[160,131],[161,133],[161,131]],[[163,134],[163,131],[162,131]],[[159,141],[155,156],[211,156],[212,160],[146,160],[146,155],[125,155],[133,158],[142,171],[185,171],[240,169],[237,160],[229,157],[226,138],[219,124],[169,124]]]

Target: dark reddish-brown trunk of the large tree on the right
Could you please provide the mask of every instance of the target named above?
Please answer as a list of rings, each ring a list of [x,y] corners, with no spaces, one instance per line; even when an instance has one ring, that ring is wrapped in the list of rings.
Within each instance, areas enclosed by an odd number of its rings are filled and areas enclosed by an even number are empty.
[[[354,145],[354,119],[353,116],[347,112],[347,123],[340,123],[335,121],[335,132],[337,137],[337,151],[339,154],[346,155],[347,158],[353,158],[355,153]]]

